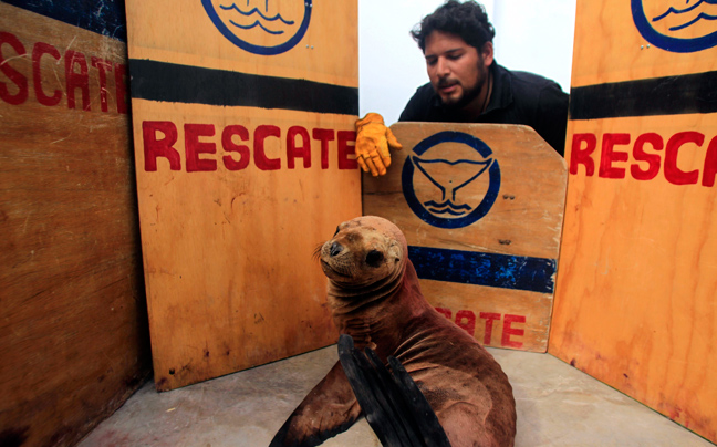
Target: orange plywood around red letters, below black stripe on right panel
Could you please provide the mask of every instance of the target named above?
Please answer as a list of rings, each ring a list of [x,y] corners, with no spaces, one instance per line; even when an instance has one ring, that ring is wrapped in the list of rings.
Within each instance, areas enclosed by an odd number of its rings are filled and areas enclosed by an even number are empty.
[[[635,135],[645,121],[571,123],[569,135]],[[671,117],[659,134],[667,141],[695,122]],[[680,168],[703,171],[704,156],[686,147]],[[550,346],[710,439],[700,420],[717,412],[708,365],[717,326],[716,200],[715,188],[673,185],[663,174],[650,181],[571,175]]]

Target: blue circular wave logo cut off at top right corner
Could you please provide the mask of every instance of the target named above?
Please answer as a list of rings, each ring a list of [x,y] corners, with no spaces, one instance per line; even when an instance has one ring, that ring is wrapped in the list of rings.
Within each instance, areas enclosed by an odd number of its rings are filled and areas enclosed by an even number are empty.
[[[631,0],[633,21],[653,45],[693,53],[717,45],[716,0]]]

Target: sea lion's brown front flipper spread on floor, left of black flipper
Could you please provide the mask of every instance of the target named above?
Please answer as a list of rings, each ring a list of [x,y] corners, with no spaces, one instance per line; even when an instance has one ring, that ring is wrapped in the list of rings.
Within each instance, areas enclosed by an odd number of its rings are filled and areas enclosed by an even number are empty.
[[[361,415],[340,362],[304,397],[269,447],[313,447],[345,432]]]

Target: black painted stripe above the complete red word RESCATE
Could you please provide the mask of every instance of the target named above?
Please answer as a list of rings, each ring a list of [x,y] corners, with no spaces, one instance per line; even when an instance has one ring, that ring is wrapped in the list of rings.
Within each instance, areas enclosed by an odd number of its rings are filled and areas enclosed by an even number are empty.
[[[149,60],[129,60],[132,97],[187,104],[358,114],[358,89]]]

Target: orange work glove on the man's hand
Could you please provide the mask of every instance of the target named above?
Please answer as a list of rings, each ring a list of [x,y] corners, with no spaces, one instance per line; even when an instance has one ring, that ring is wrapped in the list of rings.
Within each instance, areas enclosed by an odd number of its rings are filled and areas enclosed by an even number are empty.
[[[383,116],[377,113],[367,113],[356,122],[356,162],[364,170],[371,171],[376,177],[386,174],[391,166],[391,152],[403,146],[393,132],[384,125]]]

